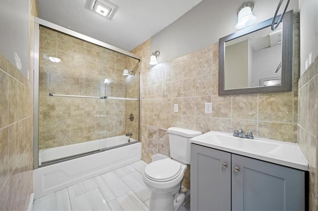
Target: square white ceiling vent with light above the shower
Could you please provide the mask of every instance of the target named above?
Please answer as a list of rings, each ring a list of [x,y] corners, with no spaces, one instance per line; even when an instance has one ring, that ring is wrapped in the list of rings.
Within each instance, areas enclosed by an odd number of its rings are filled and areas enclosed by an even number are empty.
[[[105,0],[92,0],[90,9],[105,18],[111,19],[115,14],[116,5]]]

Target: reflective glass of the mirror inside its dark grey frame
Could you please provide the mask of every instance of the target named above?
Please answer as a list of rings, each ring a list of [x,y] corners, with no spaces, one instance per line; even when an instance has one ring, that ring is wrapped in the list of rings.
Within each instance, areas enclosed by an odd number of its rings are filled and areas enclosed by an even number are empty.
[[[225,43],[225,89],[281,84],[282,24]]]

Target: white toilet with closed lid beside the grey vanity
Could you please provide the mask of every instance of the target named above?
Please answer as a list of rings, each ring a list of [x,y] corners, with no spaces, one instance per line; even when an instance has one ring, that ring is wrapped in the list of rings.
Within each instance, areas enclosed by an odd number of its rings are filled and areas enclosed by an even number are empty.
[[[181,183],[187,164],[190,164],[190,138],[202,132],[178,127],[168,128],[170,158],[149,163],[143,180],[151,190],[150,211],[177,211],[185,196]]]

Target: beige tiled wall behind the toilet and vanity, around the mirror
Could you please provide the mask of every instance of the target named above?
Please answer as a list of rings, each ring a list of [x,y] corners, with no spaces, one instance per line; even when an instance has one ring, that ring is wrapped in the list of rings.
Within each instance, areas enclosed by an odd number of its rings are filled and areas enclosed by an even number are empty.
[[[232,128],[258,130],[255,136],[288,142],[297,141],[299,77],[299,15],[294,17],[293,91],[269,94],[218,95],[218,44],[186,54],[172,61],[148,64],[151,41],[132,52],[143,57],[142,159],[161,153],[169,156],[168,127],[182,127],[206,133],[233,132]],[[212,102],[212,114],[204,104]],[[173,112],[178,104],[179,111]],[[190,187],[190,166],[183,185]]]

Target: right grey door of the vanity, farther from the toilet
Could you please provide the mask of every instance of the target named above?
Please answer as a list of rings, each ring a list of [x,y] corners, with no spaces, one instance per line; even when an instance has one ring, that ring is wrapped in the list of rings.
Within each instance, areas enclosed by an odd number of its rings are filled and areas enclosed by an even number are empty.
[[[305,172],[232,154],[232,210],[304,211]]]

